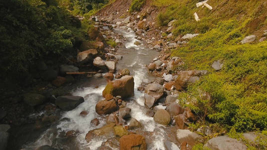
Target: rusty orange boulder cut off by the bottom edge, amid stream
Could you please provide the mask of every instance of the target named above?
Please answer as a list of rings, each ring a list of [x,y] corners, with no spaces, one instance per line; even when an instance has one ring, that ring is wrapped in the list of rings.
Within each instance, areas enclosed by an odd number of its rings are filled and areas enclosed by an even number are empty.
[[[146,150],[145,137],[139,134],[124,135],[120,138],[120,150]]]

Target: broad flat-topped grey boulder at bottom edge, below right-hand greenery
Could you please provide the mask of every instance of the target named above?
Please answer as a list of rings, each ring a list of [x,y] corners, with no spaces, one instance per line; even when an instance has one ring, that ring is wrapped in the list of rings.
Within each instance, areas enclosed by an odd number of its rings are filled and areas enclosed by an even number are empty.
[[[209,139],[204,147],[208,147],[212,150],[245,150],[246,145],[242,141],[238,141],[235,138],[230,138],[228,136],[217,136]]]

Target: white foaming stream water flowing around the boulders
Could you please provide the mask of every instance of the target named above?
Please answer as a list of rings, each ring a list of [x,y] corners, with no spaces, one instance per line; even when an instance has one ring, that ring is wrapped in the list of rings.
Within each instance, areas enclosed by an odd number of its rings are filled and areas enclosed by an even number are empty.
[[[127,102],[127,107],[132,109],[131,116],[140,121],[143,126],[137,129],[136,132],[145,136],[147,149],[165,149],[165,142],[168,136],[165,130],[168,130],[168,128],[155,123],[153,117],[146,115],[148,109],[144,107],[143,93],[137,90],[143,79],[154,79],[145,64],[149,64],[159,53],[145,47],[143,44],[135,45],[134,42],[137,41],[135,39],[136,35],[130,28],[114,28],[113,31],[123,35],[126,39],[123,41],[126,48],[119,48],[117,51],[119,55],[123,55],[123,58],[117,64],[117,70],[128,68],[131,75],[134,76],[135,96]],[[142,41],[140,42],[142,43]],[[99,100],[103,99],[102,91],[105,88],[106,81],[104,79],[96,80],[95,78],[91,80],[91,84],[87,87],[74,89],[72,93],[73,95],[83,96],[85,102],[71,111],[64,112],[58,124],[47,129],[36,141],[24,145],[24,147],[38,147],[47,144],[59,149],[98,149],[102,142],[107,139],[104,137],[96,138],[88,143],[85,140],[85,135],[89,130],[105,125],[103,116],[96,113],[95,105]],[[99,85],[98,88],[95,88],[96,84]],[[89,112],[87,116],[80,115],[83,110]],[[90,121],[94,118],[100,120],[98,126],[90,124]],[[62,135],[69,130],[76,130],[79,133],[71,138],[66,138]],[[172,142],[170,143],[173,144]]]

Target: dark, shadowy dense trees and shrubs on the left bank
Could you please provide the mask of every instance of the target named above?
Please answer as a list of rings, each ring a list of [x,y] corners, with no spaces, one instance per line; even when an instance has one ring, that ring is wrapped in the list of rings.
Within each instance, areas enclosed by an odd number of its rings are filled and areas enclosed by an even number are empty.
[[[1,78],[24,78],[36,59],[73,51],[90,28],[88,19],[74,15],[92,14],[107,2],[1,0]]]

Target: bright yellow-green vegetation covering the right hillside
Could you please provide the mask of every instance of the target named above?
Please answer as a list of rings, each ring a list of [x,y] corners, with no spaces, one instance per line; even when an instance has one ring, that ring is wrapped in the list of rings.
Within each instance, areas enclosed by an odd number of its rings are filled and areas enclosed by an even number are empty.
[[[260,28],[267,26],[264,0],[209,0],[213,10],[197,8],[198,1],[154,0],[155,5],[165,7],[158,15],[159,25],[176,19],[175,36],[202,33],[172,52],[186,62],[180,67],[210,72],[180,94],[181,104],[189,106],[202,120],[207,118],[226,129],[266,130],[267,41],[240,44],[250,34],[262,37]],[[194,12],[200,21],[195,21]],[[223,63],[222,70],[211,67],[214,60]]]

